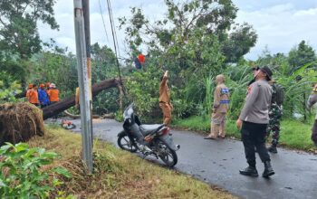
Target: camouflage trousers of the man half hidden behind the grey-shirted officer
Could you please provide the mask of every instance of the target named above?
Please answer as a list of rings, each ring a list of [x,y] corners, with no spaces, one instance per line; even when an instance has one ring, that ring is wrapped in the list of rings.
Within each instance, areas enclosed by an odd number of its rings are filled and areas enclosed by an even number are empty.
[[[270,136],[272,133],[272,145],[276,147],[278,144],[278,140],[280,138],[280,126],[281,126],[281,118],[282,118],[282,108],[280,108],[276,104],[272,104],[269,111],[269,125],[266,129],[266,138]]]

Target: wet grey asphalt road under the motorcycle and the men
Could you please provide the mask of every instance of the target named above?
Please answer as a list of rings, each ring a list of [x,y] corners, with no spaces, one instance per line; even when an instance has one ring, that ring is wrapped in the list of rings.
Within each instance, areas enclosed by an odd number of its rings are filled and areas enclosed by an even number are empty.
[[[72,120],[80,132],[80,120]],[[108,140],[117,146],[117,134],[122,124],[111,119],[93,122],[94,137]],[[317,156],[278,148],[271,155],[275,175],[262,177],[264,170],[256,156],[259,177],[239,175],[246,166],[241,141],[232,139],[206,140],[195,132],[172,130],[174,142],[180,145],[175,168],[241,198],[317,198]],[[163,163],[161,163],[163,164]]]

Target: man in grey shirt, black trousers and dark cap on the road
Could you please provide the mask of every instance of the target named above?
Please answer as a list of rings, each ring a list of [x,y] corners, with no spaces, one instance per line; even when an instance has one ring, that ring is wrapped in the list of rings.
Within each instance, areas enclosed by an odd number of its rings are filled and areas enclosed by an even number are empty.
[[[270,155],[265,147],[266,128],[269,123],[269,107],[272,89],[268,81],[272,80],[272,71],[264,66],[255,72],[255,82],[249,86],[245,106],[236,127],[241,129],[241,137],[245,147],[245,157],[249,166],[240,170],[241,175],[258,176],[255,167],[255,147],[264,163],[262,176],[274,175]]]

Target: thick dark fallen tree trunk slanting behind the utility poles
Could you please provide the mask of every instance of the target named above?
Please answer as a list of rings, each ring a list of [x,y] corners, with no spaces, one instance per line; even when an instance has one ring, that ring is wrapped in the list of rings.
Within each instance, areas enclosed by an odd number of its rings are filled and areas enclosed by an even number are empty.
[[[102,90],[107,90],[110,88],[115,88],[120,84],[119,79],[111,79],[106,81],[100,81],[98,83],[93,84],[92,86],[92,96],[96,96],[99,94]],[[61,100],[57,103],[54,103],[48,107],[43,108],[43,119],[51,118],[58,113],[64,111],[65,109],[69,109],[72,106],[75,105],[75,95],[66,98],[64,100]]]

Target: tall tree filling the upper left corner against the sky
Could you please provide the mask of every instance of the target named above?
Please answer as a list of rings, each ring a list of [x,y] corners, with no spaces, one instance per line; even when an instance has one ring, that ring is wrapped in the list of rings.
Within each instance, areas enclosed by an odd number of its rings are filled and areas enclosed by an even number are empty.
[[[37,23],[58,29],[53,16],[55,0],[0,1],[0,48],[2,52],[29,58],[41,50]]]

